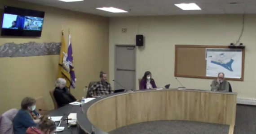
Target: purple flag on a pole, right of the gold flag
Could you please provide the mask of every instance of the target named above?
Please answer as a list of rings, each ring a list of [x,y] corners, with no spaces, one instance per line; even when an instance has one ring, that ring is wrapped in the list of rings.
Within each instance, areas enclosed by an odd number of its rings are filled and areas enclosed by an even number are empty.
[[[71,78],[70,84],[71,84],[72,88],[75,89],[76,78],[75,78],[75,70],[74,70],[75,68],[73,66],[73,53],[72,53],[70,32],[69,32],[69,44],[68,44],[68,50],[67,50],[67,61],[69,63],[69,68],[70,68],[70,71],[69,71],[70,78]]]

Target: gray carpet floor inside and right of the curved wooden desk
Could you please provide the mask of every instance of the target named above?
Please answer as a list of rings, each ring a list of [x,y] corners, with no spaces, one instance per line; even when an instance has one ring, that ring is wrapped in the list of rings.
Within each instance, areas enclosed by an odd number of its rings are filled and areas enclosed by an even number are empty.
[[[109,134],[228,134],[229,126],[196,121],[149,121],[136,123]],[[256,106],[237,105],[234,134],[256,134]]]

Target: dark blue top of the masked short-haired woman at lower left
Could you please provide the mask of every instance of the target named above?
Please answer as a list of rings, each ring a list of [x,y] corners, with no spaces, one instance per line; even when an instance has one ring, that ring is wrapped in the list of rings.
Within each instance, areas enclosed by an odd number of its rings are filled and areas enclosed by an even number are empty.
[[[35,110],[33,113],[36,116],[39,114]],[[31,126],[36,126],[34,119],[27,110],[20,109],[13,120],[14,134],[26,134],[27,128]]]

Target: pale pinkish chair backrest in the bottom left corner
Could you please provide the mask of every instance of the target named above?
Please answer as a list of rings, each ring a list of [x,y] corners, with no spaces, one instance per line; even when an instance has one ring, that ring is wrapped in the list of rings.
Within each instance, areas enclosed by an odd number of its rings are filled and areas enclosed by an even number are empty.
[[[13,134],[13,119],[17,113],[17,109],[10,109],[1,115],[0,134]]]

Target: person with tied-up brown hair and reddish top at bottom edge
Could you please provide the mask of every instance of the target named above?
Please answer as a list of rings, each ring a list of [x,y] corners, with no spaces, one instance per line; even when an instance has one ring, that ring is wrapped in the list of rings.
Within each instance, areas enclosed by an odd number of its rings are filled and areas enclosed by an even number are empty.
[[[54,121],[49,119],[48,116],[40,117],[40,122],[38,126],[31,126],[26,130],[26,134],[54,134],[56,130],[56,125]]]

